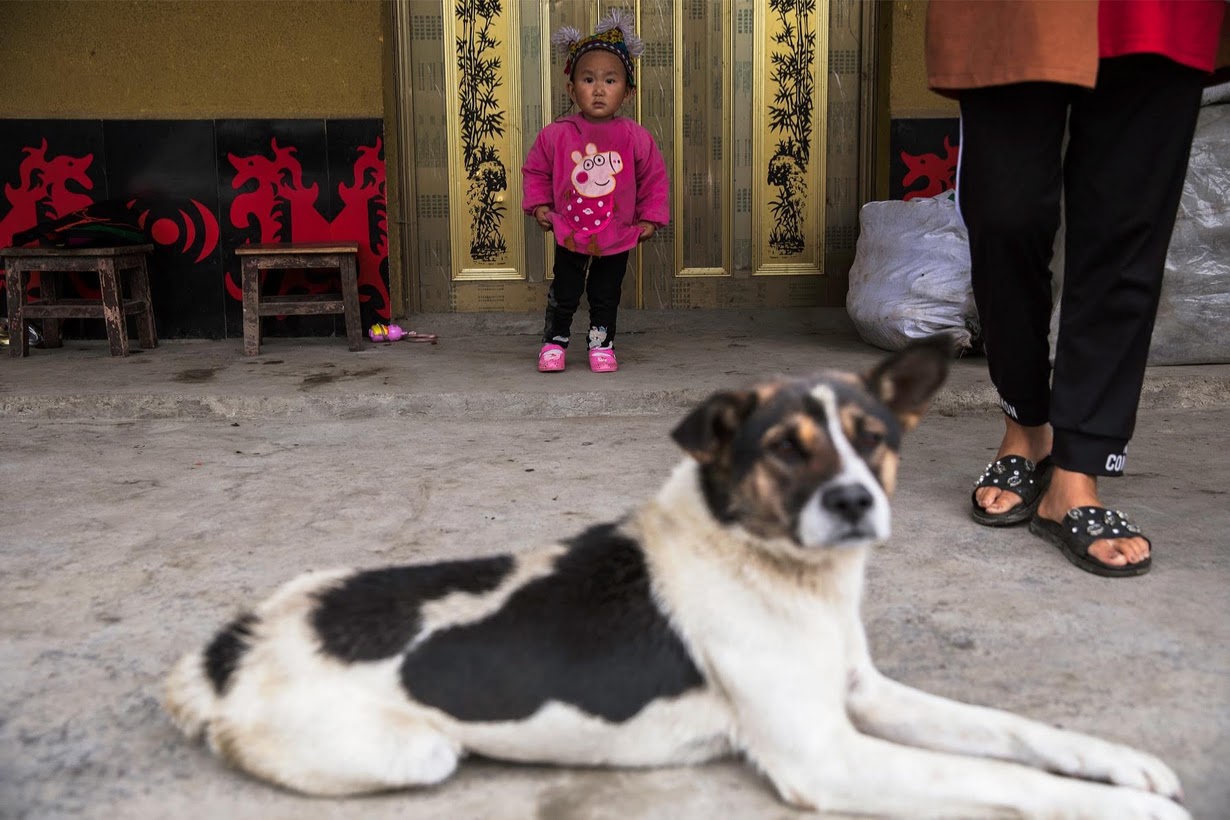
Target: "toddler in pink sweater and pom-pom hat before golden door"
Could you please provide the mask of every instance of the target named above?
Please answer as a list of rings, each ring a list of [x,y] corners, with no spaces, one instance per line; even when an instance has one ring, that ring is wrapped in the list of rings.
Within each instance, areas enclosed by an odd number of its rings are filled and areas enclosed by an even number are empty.
[[[632,59],[643,45],[626,14],[611,11],[594,34],[561,28],[568,97],[579,113],[542,129],[522,168],[523,207],[555,232],[555,279],[546,298],[539,370],[563,370],[572,316],[589,298],[589,369],[614,373],[615,318],[629,252],[670,219],[667,166],[645,128],[619,116],[636,90]]]

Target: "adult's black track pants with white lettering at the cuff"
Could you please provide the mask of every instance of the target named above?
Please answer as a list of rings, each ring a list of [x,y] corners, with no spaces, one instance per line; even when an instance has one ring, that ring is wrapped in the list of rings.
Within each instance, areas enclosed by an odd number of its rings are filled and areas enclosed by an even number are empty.
[[[1011,418],[1052,424],[1065,470],[1123,472],[1204,76],[1132,55],[1103,59],[1092,91],[1023,82],[962,92],[957,202],[990,377]]]

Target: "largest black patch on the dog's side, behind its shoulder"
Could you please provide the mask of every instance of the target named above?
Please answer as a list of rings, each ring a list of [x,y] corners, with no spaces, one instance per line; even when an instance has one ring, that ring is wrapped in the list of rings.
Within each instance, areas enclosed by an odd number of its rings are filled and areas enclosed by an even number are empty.
[[[460,720],[520,720],[560,701],[606,720],[704,684],[649,590],[645,554],[615,525],[581,534],[555,570],[487,618],[406,656],[419,703]]]

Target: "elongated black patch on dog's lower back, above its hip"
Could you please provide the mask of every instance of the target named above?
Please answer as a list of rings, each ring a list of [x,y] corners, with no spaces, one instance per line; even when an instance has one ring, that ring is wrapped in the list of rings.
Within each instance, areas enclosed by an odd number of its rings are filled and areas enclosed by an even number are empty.
[[[392,658],[418,633],[423,602],[449,593],[486,593],[512,569],[512,556],[493,556],[362,572],[316,596],[312,626],[335,658]]]

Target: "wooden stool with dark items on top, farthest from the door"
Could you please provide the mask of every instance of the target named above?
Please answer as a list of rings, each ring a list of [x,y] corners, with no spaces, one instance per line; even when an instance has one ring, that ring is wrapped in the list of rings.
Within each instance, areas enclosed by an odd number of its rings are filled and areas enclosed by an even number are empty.
[[[10,355],[30,355],[26,326],[32,318],[46,320],[43,345],[49,348],[64,344],[60,339],[60,320],[101,318],[107,323],[111,355],[125,357],[128,355],[127,317],[135,316],[141,347],[157,347],[149,268],[145,264],[145,254],[153,250],[153,245],[129,245],[95,248],[7,247],[0,251],[9,279]],[[39,298],[36,301],[27,301],[26,274],[36,270],[42,274]],[[98,273],[101,300],[59,298],[57,278],[50,274],[90,270]],[[132,295],[128,299],[124,298],[121,283],[121,274],[125,270],[132,272]]]

